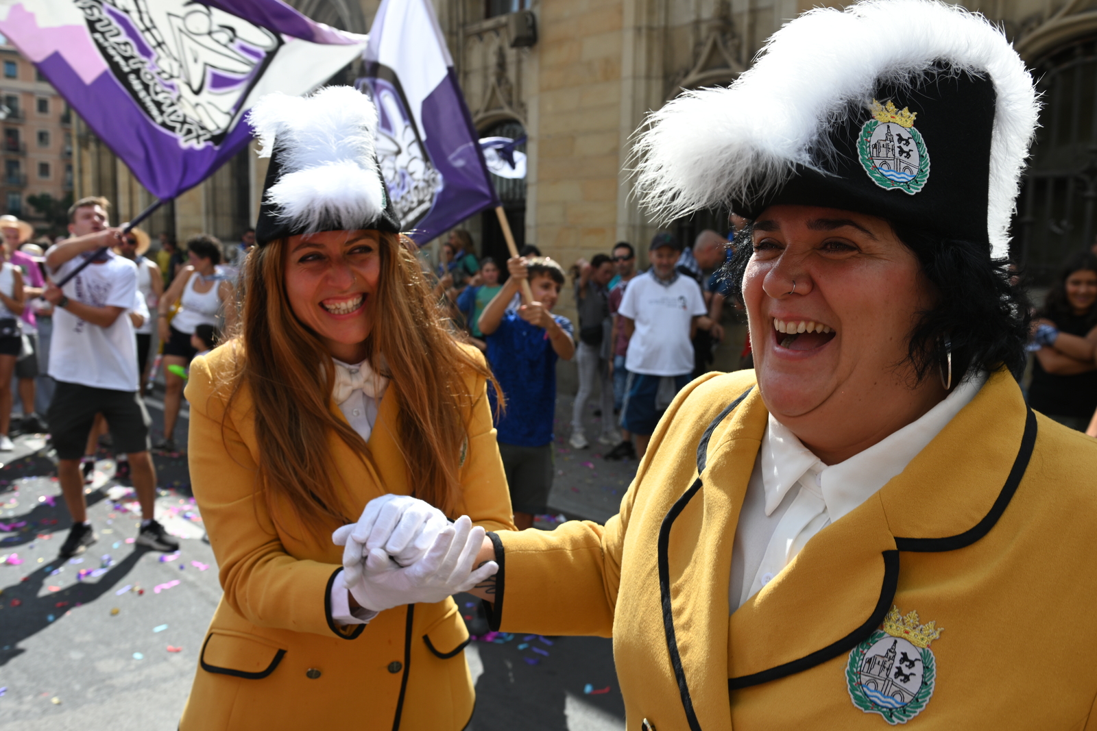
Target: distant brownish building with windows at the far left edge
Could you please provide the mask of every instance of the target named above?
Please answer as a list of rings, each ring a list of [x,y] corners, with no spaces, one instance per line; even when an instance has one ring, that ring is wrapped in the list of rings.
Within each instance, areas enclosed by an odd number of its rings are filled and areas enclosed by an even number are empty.
[[[31,61],[0,37],[0,210],[49,228],[29,196],[63,201],[72,192],[72,114]]]

